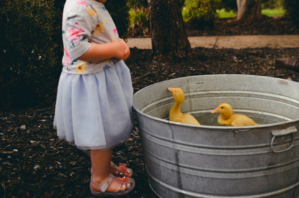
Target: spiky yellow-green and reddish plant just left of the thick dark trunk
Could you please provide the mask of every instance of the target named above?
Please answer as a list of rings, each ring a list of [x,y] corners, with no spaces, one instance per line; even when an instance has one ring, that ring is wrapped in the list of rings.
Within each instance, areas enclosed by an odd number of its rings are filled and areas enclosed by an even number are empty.
[[[150,35],[149,13],[148,8],[135,7],[130,12],[130,26],[128,33],[130,36],[147,36]]]

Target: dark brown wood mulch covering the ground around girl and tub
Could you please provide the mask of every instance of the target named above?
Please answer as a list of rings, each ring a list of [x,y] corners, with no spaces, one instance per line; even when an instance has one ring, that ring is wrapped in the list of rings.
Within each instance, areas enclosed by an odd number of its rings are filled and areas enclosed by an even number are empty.
[[[265,17],[262,22],[196,31],[188,36],[242,34],[298,34],[286,18]],[[275,59],[299,58],[299,48],[194,48],[193,57],[175,64],[154,64],[151,50],[131,49],[126,60],[134,92],[164,80],[206,74],[253,74],[299,82],[299,72],[274,67]],[[0,198],[2,197],[94,197],[89,190],[90,159],[53,129],[56,92],[52,102],[36,108],[0,112]],[[21,126],[25,125],[25,129]],[[138,129],[114,148],[113,161],[134,171],[136,186],[122,197],[157,197],[148,183]]]

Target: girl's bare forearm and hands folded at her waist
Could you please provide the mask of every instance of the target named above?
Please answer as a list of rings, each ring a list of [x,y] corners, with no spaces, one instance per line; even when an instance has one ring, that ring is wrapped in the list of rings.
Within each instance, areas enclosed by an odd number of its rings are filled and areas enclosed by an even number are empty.
[[[123,39],[111,43],[91,43],[89,50],[78,57],[78,60],[86,62],[99,62],[112,57],[118,60],[126,60],[130,55],[130,49]]]

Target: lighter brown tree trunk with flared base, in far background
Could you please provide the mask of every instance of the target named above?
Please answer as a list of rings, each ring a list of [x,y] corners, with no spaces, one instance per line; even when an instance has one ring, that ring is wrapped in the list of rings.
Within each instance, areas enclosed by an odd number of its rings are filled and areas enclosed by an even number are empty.
[[[241,22],[252,22],[262,19],[261,0],[237,0],[237,19],[230,20],[226,25],[237,25]]]

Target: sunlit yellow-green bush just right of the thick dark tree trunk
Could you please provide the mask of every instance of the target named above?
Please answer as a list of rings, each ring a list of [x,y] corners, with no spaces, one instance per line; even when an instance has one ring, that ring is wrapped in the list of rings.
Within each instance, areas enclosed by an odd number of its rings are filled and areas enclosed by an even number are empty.
[[[186,0],[182,14],[185,22],[196,29],[213,28],[220,0]]]

